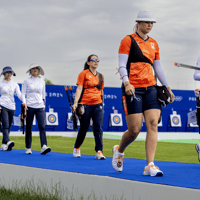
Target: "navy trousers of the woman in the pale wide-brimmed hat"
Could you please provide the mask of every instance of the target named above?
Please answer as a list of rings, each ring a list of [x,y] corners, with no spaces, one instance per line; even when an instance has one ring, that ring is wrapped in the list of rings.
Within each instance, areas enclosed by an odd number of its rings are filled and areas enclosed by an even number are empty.
[[[46,131],[45,131],[45,125],[46,125],[45,110],[43,108],[28,107],[27,118],[26,118],[26,136],[25,136],[26,148],[31,148],[32,125],[33,125],[34,115],[36,115],[36,119],[37,119],[37,122],[38,122],[41,147],[44,144],[47,145]]]

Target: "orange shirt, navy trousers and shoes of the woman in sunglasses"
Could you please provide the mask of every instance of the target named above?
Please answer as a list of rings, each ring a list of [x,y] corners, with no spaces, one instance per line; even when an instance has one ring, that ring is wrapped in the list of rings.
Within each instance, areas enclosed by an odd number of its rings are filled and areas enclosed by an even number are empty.
[[[103,114],[104,107],[101,98],[101,90],[104,89],[104,77],[102,75],[102,84],[100,88],[96,86],[99,83],[99,72],[94,75],[89,69],[82,71],[77,80],[77,85],[83,86],[83,92],[79,102],[84,105],[85,113],[81,115],[80,129],[74,145],[74,157],[80,157],[80,146],[82,145],[86,133],[90,125],[90,119],[93,121],[93,133],[95,138],[95,151],[97,152],[95,158],[105,159],[102,154],[103,150]]]

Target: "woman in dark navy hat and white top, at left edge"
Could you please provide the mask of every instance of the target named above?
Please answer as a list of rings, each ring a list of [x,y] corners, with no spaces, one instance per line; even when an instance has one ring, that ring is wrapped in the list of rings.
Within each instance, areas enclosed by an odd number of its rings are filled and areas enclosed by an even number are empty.
[[[21,92],[19,85],[11,80],[12,75],[16,76],[11,67],[4,67],[1,75],[4,75],[3,81],[0,82],[0,112],[3,132],[1,150],[11,151],[12,147],[15,145],[14,141],[10,141],[9,138],[11,124],[16,110],[14,94],[16,93],[21,100]]]

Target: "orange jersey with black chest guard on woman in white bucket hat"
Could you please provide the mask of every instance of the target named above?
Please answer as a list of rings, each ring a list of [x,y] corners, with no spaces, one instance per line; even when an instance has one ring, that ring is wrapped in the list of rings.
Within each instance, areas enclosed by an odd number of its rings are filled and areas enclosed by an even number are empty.
[[[129,55],[126,66],[129,81],[135,88],[155,85],[152,64],[154,60],[160,60],[158,44],[150,37],[143,40],[137,33],[133,33],[131,36],[135,43],[130,36],[126,36],[121,41],[118,52]]]

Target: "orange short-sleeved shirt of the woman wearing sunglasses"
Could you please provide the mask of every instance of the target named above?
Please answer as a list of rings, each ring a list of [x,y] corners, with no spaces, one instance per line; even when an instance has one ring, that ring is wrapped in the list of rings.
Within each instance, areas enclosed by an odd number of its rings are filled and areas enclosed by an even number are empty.
[[[104,77],[101,89],[104,89]],[[96,105],[102,103],[101,90],[95,86],[99,83],[98,72],[94,75],[89,69],[82,71],[79,76],[76,85],[82,85],[84,92],[80,103],[84,105]]]

